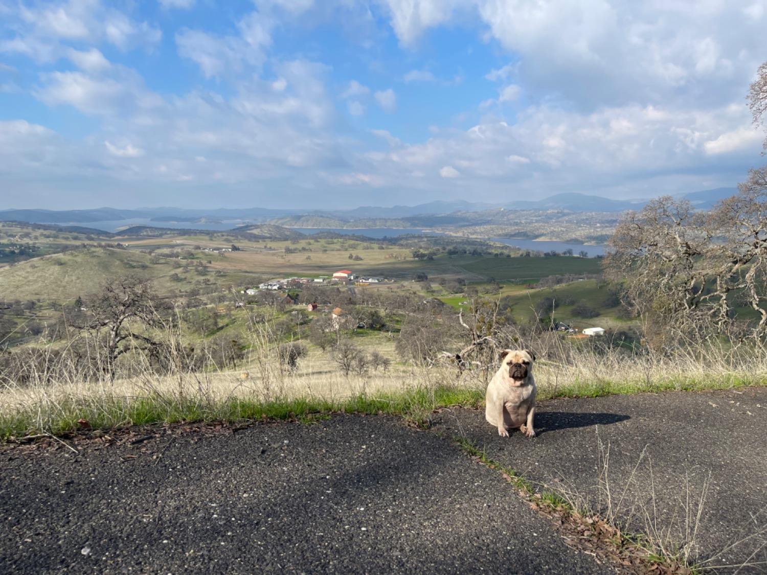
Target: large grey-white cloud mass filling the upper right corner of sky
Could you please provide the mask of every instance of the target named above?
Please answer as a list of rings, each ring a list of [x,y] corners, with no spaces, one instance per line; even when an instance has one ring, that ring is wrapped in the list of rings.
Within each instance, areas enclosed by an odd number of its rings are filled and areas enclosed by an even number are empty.
[[[588,110],[690,97],[724,104],[740,95],[767,50],[764,0],[742,10],[718,0],[700,9],[627,0],[380,2],[400,43],[410,47],[430,28],[478,18],[486,26],[482,39],[515,58],[487,79],[513,80],[526,93],[554,93]]]

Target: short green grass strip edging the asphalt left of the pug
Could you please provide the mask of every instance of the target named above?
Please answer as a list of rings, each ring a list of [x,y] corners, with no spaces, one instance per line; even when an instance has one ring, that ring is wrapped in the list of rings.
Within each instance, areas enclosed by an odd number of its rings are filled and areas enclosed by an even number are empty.
[[[235,423],[262,419],[309,422],[337,412],[403,416],[415,426],[426,427],[431,413],[439,407],[477,407],[483,399],[482,391],[448,386],[375,396],[360,394],[337,401],[300,397],[268,402],[229,399],[211,404],[196,396],[75,397],[58,403],[45,417],[37,410],[0,416],[0,439],[77,432],[81,429],[79,420],[87,421],[91,429],[117,429],[174,422]]]

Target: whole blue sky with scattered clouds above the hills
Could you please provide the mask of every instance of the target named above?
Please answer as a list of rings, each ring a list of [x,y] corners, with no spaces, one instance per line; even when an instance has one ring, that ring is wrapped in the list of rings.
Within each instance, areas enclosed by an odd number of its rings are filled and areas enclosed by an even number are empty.
[[[735,186],[767,0],[0,0],[0,209]]]

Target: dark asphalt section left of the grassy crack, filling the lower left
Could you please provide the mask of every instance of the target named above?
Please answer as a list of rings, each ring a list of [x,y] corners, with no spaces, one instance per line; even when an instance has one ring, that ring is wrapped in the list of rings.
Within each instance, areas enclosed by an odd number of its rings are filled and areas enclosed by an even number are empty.
[[[0,449],[0,573],[611,572],[399,419],[129,441]]]

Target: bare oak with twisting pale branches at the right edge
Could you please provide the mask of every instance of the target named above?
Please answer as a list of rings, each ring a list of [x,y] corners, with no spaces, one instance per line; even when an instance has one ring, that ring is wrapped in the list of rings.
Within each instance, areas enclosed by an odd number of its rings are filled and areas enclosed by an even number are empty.
[[[710,212],[668,196],[621,218],[605,273],[623,282],[624,304],[664,345],[675,337],[767,336],[767,169],[752,170],[739,193]],[[745,323],[746,304],[758,319]]]

